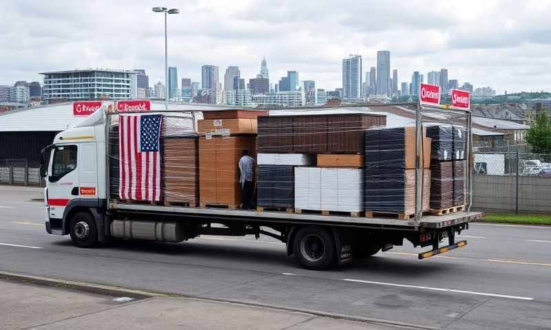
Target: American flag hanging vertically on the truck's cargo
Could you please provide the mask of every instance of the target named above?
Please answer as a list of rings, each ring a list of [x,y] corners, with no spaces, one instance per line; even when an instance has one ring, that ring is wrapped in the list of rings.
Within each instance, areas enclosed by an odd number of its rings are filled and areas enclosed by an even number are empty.
[[[160,199],[161,115],[120,115],[118,196],[137,201]]]

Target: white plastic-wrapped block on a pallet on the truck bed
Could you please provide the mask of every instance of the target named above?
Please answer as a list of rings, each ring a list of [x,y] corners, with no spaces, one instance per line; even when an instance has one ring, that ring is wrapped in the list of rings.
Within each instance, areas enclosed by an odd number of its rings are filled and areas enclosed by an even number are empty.
[[[363,169],[295,167],[297,209],[361,212],[363,191]]]

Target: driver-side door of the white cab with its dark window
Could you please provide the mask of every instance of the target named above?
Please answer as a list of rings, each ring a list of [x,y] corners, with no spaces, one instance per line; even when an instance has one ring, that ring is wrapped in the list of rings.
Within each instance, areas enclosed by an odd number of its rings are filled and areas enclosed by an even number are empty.
[[[63,219],[65,206],[79,195],[78,154],[76,144],[58,145],[52,151],[47,178],[50,219]]]

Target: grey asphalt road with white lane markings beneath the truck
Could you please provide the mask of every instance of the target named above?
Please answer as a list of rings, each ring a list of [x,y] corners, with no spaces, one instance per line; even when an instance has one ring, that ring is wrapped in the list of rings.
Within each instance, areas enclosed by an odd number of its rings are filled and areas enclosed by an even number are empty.
[[[551,329],[551,228],[473,223],[468,246],[442,256],[419,261],[406,243],[313,272],[270,238],[74,248],[45,232],[34,197],[0,186],[0,270],[441,329]]]

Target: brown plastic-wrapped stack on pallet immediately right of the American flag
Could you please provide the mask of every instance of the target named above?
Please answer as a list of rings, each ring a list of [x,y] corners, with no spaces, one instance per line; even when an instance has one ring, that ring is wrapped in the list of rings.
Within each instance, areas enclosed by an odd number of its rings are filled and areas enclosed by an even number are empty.
[[[199,202],[198,138],[163,139],[165,204]]]

